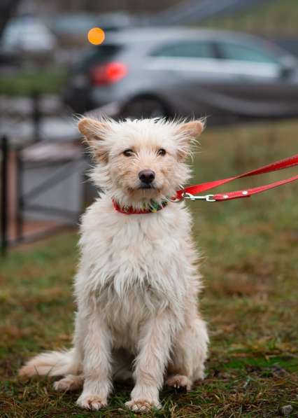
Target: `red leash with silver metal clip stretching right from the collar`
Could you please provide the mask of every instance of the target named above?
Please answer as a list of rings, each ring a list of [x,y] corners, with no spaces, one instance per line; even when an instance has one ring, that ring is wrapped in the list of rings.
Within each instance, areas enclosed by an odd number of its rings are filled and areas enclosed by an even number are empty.
[[[182,199],[190,199],[190,200],[206,200],[207,202],[221,202],[222,200],[232,200],[232,199],[239,199],[241,197],[250,197],[252,195],[256,195],[257,193],[262,193],[265,190],[269,190],[271,188],[282,186],[283,184],[291,183],[292,181],[298,180],[298,175],[290,177],[290,179],[274,181],[274,183],[266,184],[264,186],[259,186],[255,188],[236,190],[234,192],[228,192],[228,193],[218,193],[217,195],[204,195],[204,196],[200,196],[200,195],[196,196],[196,195],[197,193],[202,193],[206,190],[210,190],[211,188],[221,186],[222,184],[229,183],[230,181],[234,181],[236,179],[256,176],[257,174],[276,172],[277,170],[294,167],[295,165],[298,165],[298,154],[293,155],[290,158],[285,158],[285,160],[273,162],[272,164],[269,164],[269,165],[264,165],[264,167],[260,167],[259,169],[252,170],[245,174],[240,174],[239,176],[229,177],[228,179],[222,179],[222,180],[208,181],[207,183],[201,183],[195,186],[184,188],[182,190],[178,190],[176,194],[176,198],[173,201],[179,201]]]

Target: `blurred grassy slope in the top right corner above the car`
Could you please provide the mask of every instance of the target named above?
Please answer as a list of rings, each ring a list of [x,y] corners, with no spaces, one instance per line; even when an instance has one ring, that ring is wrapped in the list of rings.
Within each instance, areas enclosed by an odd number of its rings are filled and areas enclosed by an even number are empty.
[[[297,36],[297,0],[271,0],[239,13],[204,21],[204,27],[217,27],[263,35]]]

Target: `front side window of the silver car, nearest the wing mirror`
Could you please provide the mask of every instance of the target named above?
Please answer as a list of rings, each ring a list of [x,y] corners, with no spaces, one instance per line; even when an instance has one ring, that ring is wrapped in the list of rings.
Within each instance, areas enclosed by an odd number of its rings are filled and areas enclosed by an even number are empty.
[[[265,48],[240,45],[239,43],[221,42],[221,57],[224,60],[278,63],[278,57]]]

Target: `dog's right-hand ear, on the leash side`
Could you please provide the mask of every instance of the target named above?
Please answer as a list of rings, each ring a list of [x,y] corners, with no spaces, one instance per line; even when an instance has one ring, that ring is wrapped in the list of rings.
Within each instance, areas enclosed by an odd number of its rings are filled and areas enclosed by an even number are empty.
[[[190,144],[197,139],[205,127],[204,120],[192,120],[178,127],[178,158],[185,160],[190,153]]]

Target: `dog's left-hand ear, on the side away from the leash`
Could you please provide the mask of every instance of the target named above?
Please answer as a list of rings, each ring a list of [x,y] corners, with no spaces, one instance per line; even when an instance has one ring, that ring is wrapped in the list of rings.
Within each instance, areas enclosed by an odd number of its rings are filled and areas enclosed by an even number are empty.
[[[109,130],[108,123],[96,119],[83,118],[78,123],[78,130],[85,137],[90,150],[102,162],[108,159],[108,149],[104,138]]]

